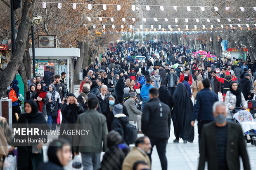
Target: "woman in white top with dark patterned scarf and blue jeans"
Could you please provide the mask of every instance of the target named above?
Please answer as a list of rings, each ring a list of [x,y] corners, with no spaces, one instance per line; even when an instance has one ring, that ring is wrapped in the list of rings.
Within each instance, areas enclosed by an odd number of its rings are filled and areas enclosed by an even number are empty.
[[[58,110],[61,107],[62,100],[53,84],[48,86],[47,96],[49,98],[49,102],[46,104],[47,123],[50,126],[50,129],[55,130]]]

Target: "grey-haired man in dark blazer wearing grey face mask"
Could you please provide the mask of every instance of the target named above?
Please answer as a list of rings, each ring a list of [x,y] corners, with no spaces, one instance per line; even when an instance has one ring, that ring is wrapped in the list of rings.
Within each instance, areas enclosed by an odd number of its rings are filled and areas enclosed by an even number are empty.
[[[212,109],[215,121],[202,130],[198,170],[204,170],[206,159],[208,170],[239,170],[240,156],[244,170],[250,170],[241,126],[227,121],[225,103],[215,102]]]

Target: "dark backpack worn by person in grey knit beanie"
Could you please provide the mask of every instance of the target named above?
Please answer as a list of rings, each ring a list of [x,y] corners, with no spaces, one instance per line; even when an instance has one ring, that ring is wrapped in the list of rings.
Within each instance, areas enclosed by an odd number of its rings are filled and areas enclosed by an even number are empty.
[[[129,145],[135,143],[137,139],[137,133],[138,130],[136,126],[130,123],[126,124],[124,129],[124,141],[126,142],[126,144]]]

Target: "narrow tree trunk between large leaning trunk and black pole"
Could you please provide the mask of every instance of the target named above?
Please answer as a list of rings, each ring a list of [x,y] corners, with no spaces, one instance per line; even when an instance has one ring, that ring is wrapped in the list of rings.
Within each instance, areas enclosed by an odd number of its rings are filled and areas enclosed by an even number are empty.
[[[24,93],[27,91],[27,82],[31,78],[31,58],[29,56],[29,41],[26,41],[26,50],[23,55],[23,60],[19,66],[19,74],[21,75],[24,84]]]

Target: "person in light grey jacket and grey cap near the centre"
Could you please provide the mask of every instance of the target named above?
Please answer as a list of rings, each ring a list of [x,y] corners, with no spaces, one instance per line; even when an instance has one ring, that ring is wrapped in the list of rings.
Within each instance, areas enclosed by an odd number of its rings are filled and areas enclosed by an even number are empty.
[[[126,100],[123,105],[126,107],[127,112],[129,114],[129,121],[133,121],[135,124],[137,123],[137,128],[139,129],[139,133],[141,133],[141,116],[142,112],[135,106],[135,98],[136,93],[130,93],[130,98]]]

